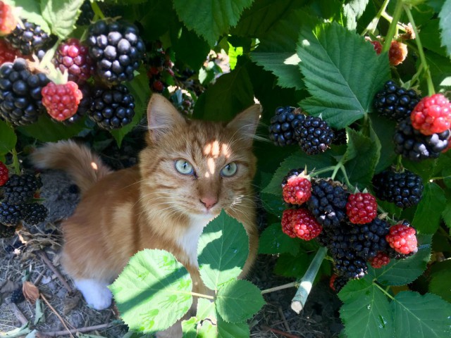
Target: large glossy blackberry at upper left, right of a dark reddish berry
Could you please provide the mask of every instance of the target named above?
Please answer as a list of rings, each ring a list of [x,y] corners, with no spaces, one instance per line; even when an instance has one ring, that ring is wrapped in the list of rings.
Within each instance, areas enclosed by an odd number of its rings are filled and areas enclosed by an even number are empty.
[[[96,63],[97,75],[102,81],[118,84],[133,79],[145,50],[137,27],[99,20],[89,25],[87,36],[89,56]]]

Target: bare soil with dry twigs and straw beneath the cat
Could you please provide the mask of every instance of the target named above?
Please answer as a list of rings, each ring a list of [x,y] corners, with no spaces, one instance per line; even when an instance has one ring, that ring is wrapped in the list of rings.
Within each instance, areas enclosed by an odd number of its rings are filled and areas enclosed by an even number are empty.
[[[103,149],[104,160],[114,168],[136,162],[136,147],[132,151],[127,149],[127,144],[123,146],[122,154],[128,156],[119,156],[114,147],[110,148]],[[30,323],[30,330],[39,332],[34,337],[71,337],[60,332],[66,328],[79,329],[78,337],[123,337],[127,327],[117,319],[117,311],[113,307],[104,311],[87,307],[59,263],[62,243],[59,224],[77,206],[78,188],[66,174],[58,171],[43,172],[41,178],[41,197],[49,208],[46,222],[36,226],[23,225],[11,239],[0,239],[0,337],[25,323]],[[259,223],[264,228],[264,217]],[[248,279],[260,289],[292,282],[292,279],[273,273],[276,259],[276,256],[260,255]],[[11,303],[13,290],[21,287],[24,280],[33,282],[42,294],[38,307],[42,308],[44,317],[37,324],[39,311],[36,305],[30,301]],[[340,301],[328,287],[328,281],[314,285],[299,315],[290,308],[295,291],[295,288],[289,288],[264,294],[266,305],[249,321],[251,337],[338,337],[342,330],[338,317]],[[84,331],[80,328],[86,327],[85,333],[90,336],[80,335]]]

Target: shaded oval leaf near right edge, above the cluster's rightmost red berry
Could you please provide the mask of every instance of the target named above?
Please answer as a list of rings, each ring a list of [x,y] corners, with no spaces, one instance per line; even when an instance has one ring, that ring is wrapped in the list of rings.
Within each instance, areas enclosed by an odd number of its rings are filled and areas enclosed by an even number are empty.
[[[435,182],[429,182],[424,186],[423,195],[416,206],[412,226],[423,234],[433,234],[440,226],[440,214],[445,205],[445,192]]]

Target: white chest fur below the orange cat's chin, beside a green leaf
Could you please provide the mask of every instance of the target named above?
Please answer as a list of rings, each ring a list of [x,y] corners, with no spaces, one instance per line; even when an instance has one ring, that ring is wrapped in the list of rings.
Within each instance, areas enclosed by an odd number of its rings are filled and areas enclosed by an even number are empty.
[[[211,215],[196,215],[191,217],[191,225],[183,236],[178,238],[178,244],[187,253],[190,264],[197,265],[197,244],[204,227],[209,224],[214,217]]]

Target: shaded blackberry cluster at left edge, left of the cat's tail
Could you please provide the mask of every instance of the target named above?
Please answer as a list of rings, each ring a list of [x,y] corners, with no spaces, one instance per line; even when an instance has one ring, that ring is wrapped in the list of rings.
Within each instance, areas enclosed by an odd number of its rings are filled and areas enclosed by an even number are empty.
[[[29,225],[44,222],[47,208],[34,201],[42,187],[39,177],[32,174],[9,175],[6,165],[0,162],[0,183],[1,234],[11,237],[20,220]]]

